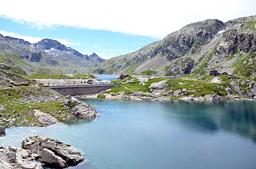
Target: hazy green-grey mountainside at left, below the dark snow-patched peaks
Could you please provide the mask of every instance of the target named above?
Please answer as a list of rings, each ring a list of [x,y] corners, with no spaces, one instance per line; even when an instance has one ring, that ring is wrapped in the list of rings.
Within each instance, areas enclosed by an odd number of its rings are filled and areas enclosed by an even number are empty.
[[[63,53],[61,57],[52,56],[43,49],[25,45],[21,39],[0,35],[0,63],[8,64],[11,72],[31,73],[85,73],[84,68],[92,67],[96,61]],[[71,49],[70,49],[71,50]],[[44,51],[44,52],[43,52]]]

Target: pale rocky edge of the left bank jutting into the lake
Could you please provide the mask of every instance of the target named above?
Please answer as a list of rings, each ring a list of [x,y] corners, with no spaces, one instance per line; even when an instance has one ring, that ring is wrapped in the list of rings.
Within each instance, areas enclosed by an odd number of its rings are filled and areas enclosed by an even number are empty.
[[[23,100],[25,98],[22,98]],[[36,99],[33,97],[32,99],[26,99],[29,103],[35,103],[42,98]],[[30,106],[29,110],[29,120],[27,120],[24,115],[20,113],[20,110],[17,111],[16,109],[10,115],[3,114],[3,119],[0,119],[0,123],[3,126],[10,127],[10,126],[46,126],[55,124],[56,122],[68,121],[74,118],[96,118],[99,117],[100,114],[97,113],[95,108],[85,102],[77,100],[74,97],[67,96],[65,99],[58,96],[56,100],[59,101],[59,106],[62,110],[53,110],[51,112],[42,112],[39,109],[36,109]],[[53,105],[54,104],[53,102]],[[4,107],[1,107],[4,108]],[[6,109],[3,109],[6,111]],[[33,120],[32,122],[29,122]]]

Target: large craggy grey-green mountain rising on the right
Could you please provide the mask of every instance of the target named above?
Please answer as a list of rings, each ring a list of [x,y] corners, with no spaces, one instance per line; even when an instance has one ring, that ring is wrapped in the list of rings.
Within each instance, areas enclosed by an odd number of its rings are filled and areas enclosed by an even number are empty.
[[[255,76],[256,16],[228,22],[208,19],[168,34],[163,40],[120,55],[88,73],[180,76],[207,74],[216,69],[242,76]],[[248,62],[243,63],[248,60]],[[248,69],[248,70],[247,70]],[[246,71],[244,71],[246,70]]]

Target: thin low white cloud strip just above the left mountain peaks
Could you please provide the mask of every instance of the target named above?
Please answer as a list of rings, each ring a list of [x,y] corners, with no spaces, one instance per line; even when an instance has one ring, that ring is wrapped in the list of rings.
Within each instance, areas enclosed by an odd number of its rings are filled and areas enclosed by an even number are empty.
[[[10,37],[15,37],[15,38],[23,39],[25,41],[29,41],[30,43],[36,43],[36,42],[39,42],[42,39],[46,38],[46,37],[23,36],[23,35],[20,35],[18,33],[6,32],[6,31],[3,31],[3,30],[0,30],[0,33],[3,36],[10,36]],[[61,44],[64,44],[64,45],[81,45],[80,43],[72,43],[72,42],[70,42],[70,41],[68,41],[66,39],[55,39],[55,38],[51,38],[51,39],[59,41]]]

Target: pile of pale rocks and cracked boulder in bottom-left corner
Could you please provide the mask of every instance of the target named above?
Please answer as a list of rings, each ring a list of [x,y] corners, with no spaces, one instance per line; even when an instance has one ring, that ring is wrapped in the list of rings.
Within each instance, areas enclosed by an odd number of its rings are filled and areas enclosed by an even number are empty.
[[[22,148],[0,146],[1,169],[43,169],[45,164],[66,168],[87,160],[70,144],[45,135],[30,135],[21,143]]]

